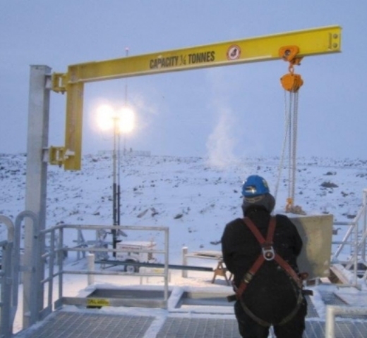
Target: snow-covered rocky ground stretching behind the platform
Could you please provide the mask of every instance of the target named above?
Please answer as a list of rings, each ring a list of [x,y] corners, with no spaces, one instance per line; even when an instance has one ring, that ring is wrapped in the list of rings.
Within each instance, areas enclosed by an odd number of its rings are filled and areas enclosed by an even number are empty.
[[[12,220],[25,208],[24,154],[0,154],[0,214]],[[77,172],[49,166],[47,187],[47,227],[57,224],[112,225],[112,156],[109,152],[86,155],[83,168]],[[242,158],[212,165],[208,158],[175,156],[123,156],[121,158],[121,225],[169,227],[169,263],[180,264],[181,250],[220,251],[219,239],[226,223],[241,217],[241,184],[252,174],[265,177],[275,192],[279,175],[279,158]],[[334,215],[335,221],[354,218],[362,204],[367,187],[367,161],[361,159],[299,158],[296,174],[296,204],[307,214]],[[286,204],[287,168],[282,169],[277,190],[276,211]],[[335,229],[337,230],[337,229]],[[335,239],[342,238],[344,229]],[[156,232],[128,232],[124,240],[156,240]],[[0,240],[6,237],[0,225]],[[95,239],[95,234],[85,237]],[[109,237],[107,237],[108,239]],[[76,236],[65,237],[73,246]],[[69,256],[70,269],[86,261]],[[192,265],[211,265],[215,261],[189,261]],[[212,274],[173,270],[171,283],[186,287],[225,287],[219,277],[211,284]],[[116,284],[140,284],[138,277],[109,277]],[[66,275],[64,291],[75,296],[87,285],[87,277]],[[105,283],[96,276],[97,283]],[[143,284],[162,284],[162,278],[143,280]],[[56,289],[56,287],[55,287]],[[21,290],[20,290],[21,291]],[[229,289],[230,292],[230,289]],[[22,294],[20,293],[20,299]],[[317,302],[317,292],[314,299]],[[21,301],[21,300],[20,300]],[[323,312],[322,302],[316,303]],[[18,311],[18,318],[19,318]],[[17,326],[18,325],[18,326]],[[15,331],[20,329],[19,320]]]

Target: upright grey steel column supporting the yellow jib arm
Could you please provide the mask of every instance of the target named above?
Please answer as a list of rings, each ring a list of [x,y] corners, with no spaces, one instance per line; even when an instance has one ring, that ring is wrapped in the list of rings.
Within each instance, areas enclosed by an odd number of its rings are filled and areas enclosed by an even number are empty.
[[[33,244],[37,243],[34,229],[40,232],[46,223],[47,161],[44,161],[44,151],[49,139],[50,90],[47,81],[50,73],[51,68],[47,65],[30,66],[25,210],[37,215],[38,224],[33,227],[31,220],[25,220],[23,328],[36,323],[43,308],[40,280],[43,279],[44,264],[39,254],[43,248],[39,246],[44,245]]]

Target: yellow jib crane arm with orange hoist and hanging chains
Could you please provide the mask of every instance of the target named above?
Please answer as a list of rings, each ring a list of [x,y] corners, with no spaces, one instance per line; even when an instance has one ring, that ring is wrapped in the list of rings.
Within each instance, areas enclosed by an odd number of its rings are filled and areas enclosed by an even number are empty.
[[[220,42],[186,49],[159,51],[140,56],[128,56],[107,61],[69,65],[66,73],[52,75],[52,90],[66,93],[66,128],[64,146],[51,146],[49,163],[64,165],[65,170],[80,170],[82,152],[83,91],[84,84],[123,77],[194,70],[198,68],[239,65],[260,61],[284,59],[289,62],[289,73],[282,77],[282,86],[291,93],[292,120],[289,121],[289,182],[295,180],[296,113],[298,89],[303,81],[294,74],[294,65],[301,58],[341,51],[342,28],[318,27],[309,30],[285,32],[276,35]],[[293,125],[293,127],[291,127]],[[289,207],[293,206],[294,184],[289,191]]]

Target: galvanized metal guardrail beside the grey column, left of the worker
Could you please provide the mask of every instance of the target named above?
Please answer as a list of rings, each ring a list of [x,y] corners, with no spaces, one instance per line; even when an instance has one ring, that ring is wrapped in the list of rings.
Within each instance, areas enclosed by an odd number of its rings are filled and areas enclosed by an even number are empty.
[[[78,243],[76,246],[73,247],[66,247],[64,246],[64,232],[65,230],[76,230],[78,233],[82,230],[94,231],[97,232],[99,230],[128,230],[128,231],[155,231],[155,232],[163,232],[164,233],[164,249],[136,249],[139,252],[150,252],[150,253],[157,253],[164,256],[164,268],[162,273],[134,273],[133,275],[140,276],[140,277],[162,277],[164,279],[163,284],[163,299],[153,300],[140,300],[136,301],[134,299],[125,299],[124,301],[116,300],[116,299],[109,299],[104,300],[107,301],[111,306],[140,306],[145,305],[146,307],[162,307],[167,308],[167,301],[168,301],[168,283],[169,283],[169,228],[168,227],[141,227],[141,226],[107,226],[107,225],[56,225],[55,227],[50,227],[49,229],[42,230],[37,236],[37,243],[36,245],[43,245],[45,246],[45,241],[47,235],[49,235],[49,250],[47,252],[43,252],[41,254],[42,261],[47,260],[49,263],[48,269],[48,276],[42,278],[39,281],[42,284],[42,289],[44,289],[44,285],[48,284],[47,290],[47,306],[42,308],[40,311],[37,311],[37,320],[42,320],[44,317],[49,315],[52,312],[53,308],[53,289],[54,289],[54,278],[58,278],[59,284],[59,291],[58,291],[58,299],[54,302],[55,308],[59,308],[60,306],[67,304],[67,305],[79,305],[79,306],[88,306],[90,305],[90,299],[80,298],[80,297],[65,297],[63,295],[63,278],[66,274],[73,274],[73,275],[86,275],[88,277],[94,275],[131,275],[131,273],[124,273],[119,271],[92,271],[92,270],[64,270],[64,251],[76,251],[79,252],[90,252],[90,253],[98,253],[98,252],[128,252],[126,249],[108,249],[102,247],[81,247]],[[55,241],[57,235],[57,241]],[[76,234],[78,236],[78,234]],[[55,242],[57,244],[55,245]],[[37,287],[40,289],[40,286]],[[43,296],[43,294],[42,294]],[[95,301],[97,302],[97,301]],[[106,303],[104,303],[106,305]]]

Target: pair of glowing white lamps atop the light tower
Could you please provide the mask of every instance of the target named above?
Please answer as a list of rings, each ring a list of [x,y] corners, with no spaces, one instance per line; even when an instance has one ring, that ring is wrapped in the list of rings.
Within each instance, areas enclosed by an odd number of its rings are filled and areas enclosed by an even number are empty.
[[[113,130],[116,120],[119,132],[128,133],[133,130],[135,115],[131,108],[121,108],[115,111],[112,106],[104,104],[97,109],[97,125],[101,130]]]

